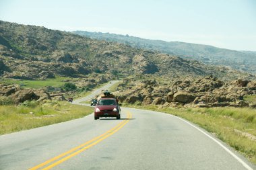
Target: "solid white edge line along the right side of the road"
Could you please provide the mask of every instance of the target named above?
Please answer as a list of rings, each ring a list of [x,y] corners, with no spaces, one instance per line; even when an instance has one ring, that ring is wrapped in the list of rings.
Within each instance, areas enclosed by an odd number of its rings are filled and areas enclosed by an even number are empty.
[[[203,134],[205,134],[205,136],[211,138],[212,140],[214,140],[214,142],[216,142],[218,145],[220,145],[222,148],[224,148],[224,150],[226,152],[228,152],[230,155],[232,155],[232,157],[234,157],[234,159],[236,159],[239,163],[241,163],[246,169],[248,170],[253,170],[249,165],[247,165],[247,163],[245,163],[242,159],[240,159],[239,157],[237,157],[234,153],[232,153],[232,151],[230,151],[226,146],[224,146],[221,142],[219,142],[218,140],[216,140],[215,138],[213,138],[212,136],[210,136],[209,134],[207,134],[206,132],[203,132],[203,130],[201,130],[200,128],[197,128],[197,126],[191,124],[190,122],[188,122],[187,120],[184,120],[183,118],[179,118],[178,116],[174,116],[169,114],[170,116],[173,116],[175,118],[178,118],[179,120],[182,120],[183,122],[186,122],[187,124],[189,124],[190,126],[192,126],[193,128],[196,128],[197,130],[199,130],[200,132],[202,132]]]

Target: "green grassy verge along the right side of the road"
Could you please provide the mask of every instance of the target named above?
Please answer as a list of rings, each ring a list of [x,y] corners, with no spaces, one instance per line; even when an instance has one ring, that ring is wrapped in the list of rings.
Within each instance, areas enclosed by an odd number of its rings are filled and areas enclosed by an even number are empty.
[[[162,108],[126,105],[179,116],[199,125],[256,164],[256,110],[251,108]]]

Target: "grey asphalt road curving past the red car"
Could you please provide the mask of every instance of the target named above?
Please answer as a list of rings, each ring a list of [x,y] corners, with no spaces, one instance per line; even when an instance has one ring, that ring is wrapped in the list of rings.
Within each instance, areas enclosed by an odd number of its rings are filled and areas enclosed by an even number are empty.
[[[90,114],[2,135],[0,169],[256,169],[212,134],[181,118],[121,110],[121,120],[94,120]]]

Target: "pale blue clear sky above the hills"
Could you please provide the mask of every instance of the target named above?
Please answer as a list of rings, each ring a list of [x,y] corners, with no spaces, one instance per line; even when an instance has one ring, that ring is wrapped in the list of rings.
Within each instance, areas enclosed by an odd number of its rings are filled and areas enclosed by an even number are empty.
[[[0,0],[0,20],[256,51],[256,0]]]

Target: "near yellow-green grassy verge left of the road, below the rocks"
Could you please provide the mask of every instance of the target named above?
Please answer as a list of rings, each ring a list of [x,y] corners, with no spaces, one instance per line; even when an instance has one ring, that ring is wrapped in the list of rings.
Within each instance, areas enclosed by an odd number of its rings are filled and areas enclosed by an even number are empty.
[[[67,101],[25,101],[19,105],[6,104],[0,105],[0,134],[82,118],[93,112],[93,108],[72,105]]]

